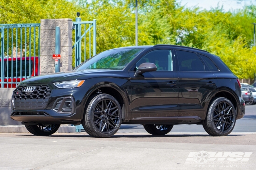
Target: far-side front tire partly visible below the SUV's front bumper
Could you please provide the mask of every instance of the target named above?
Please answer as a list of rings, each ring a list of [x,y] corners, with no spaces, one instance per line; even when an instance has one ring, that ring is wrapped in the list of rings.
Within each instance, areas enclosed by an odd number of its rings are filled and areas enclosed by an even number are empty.
[[[26,129],[36,136],[49,136],[59,129],[60,124],[25,125]]]

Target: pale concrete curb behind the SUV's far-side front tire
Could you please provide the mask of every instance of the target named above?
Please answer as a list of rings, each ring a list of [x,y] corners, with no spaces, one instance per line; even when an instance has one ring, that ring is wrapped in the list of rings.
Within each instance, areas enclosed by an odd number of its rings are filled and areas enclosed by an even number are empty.
[[[55,133],[73,133],[75,132],[75,126],[60,126]],[[8,125],[0,126],[0,133],[29,133],[25,128],[25,125]]]

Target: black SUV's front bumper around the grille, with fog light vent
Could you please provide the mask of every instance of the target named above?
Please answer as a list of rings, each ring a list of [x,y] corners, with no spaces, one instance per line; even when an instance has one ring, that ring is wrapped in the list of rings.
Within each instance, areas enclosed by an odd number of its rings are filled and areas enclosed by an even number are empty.
[[[11,119],[22,121],[23,124],[76,124],[77,122],[80,122],[83,116],[83,114],[81,114],[82,103],[85,100],[87,87],[82,86],[78,88],[59,89],[52,84],[49,84],[48,86],[52,89],[52,92],[44,108],[20,109],[20,107],[14,106],[14,99],[12,97]],[[68,108],[68,104],[65,105],[65,102],[70,102],[72,108]]]

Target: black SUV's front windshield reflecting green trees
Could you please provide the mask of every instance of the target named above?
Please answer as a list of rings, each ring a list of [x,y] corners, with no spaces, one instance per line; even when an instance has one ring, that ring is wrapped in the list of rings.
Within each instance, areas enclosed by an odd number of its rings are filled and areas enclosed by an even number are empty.
[[[136,57],[144,49],[113,49],[103,51],[90,60],[82,63],[74,70],[83,69],[114,69],[123,70],[134,57]]]

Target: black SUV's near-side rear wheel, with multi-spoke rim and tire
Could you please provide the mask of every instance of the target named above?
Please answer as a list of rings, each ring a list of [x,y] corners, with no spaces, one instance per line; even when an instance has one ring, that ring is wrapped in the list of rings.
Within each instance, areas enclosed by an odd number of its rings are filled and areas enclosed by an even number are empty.
[[[212,99],[203,120],[204,130],[211,136],[227,136],[235,124],[236,110],[232,102],[224,97]]]

